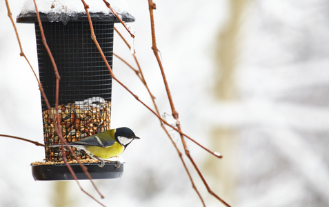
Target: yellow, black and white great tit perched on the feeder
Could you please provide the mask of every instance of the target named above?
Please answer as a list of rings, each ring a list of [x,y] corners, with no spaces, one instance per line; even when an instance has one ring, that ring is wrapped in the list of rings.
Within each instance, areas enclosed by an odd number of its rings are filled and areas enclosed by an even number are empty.
[[[101,161],[99,166],[103,168],[105,165],[103,159],[120,155],[134,139],[140,138],[136,137],[130,128],[121,127],[71,142],[68,145],[86,151],[90,157],[94,157]],[[61,146],[61,144],[52,145],[50,147],[59,146]]]

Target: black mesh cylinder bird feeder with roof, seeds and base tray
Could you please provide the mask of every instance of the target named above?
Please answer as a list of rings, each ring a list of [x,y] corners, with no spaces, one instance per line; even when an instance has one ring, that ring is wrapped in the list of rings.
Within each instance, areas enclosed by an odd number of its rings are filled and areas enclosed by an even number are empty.
[[[105,6],[105,4],[104,4]],[[78,141],[90,135],[110,129],[112,78],[106,64],[90,38],[90,25],[85,12],[76,14],[65,12],[50,14],[39,12],[48,46],[57,64],[59,75],[59,120],[63,138],[68,142]],[[97,41],[112,67],[113,29],[119,19],[109,12],[90,12],[92,26]],[[119,13],[124,22],[134,21],[128,12]],[[43,46],[37,15],[35,12],[21,12],[19,23],[34,23],[37,39],[39,78],[50,103],[50,110],[56,117],[55,92],[56,76],[50,57]],[[63,163],[61,147],[48,147],[61,144],[50,110],[41,97],[45,162],[32,164],[35,180],[73,179]],[[57,118],[57,117],[56,117]],[[81,166],[65,147],[66,158],[78,179],[88,179]],[[103,168],[93,162],[86,152],[72,147],[77,157],[88,168],[92,179],[118,178],[123,174],[123,164],[106,162]]]

